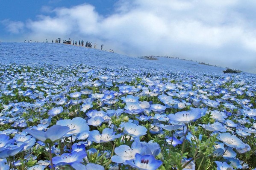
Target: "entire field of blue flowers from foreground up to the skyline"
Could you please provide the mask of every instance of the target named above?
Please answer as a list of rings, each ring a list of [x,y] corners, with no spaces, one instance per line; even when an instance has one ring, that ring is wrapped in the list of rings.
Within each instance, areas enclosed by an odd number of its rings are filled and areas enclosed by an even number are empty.
[[[13,45],[0,44],[0,170],[256,168],[255,74]]]

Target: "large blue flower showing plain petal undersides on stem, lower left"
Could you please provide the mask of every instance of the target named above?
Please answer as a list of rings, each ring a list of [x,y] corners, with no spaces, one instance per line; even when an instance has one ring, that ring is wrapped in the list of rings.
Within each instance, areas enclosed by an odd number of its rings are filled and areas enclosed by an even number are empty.
[[[29,133],[34,138],[44,143],[54,143],[59,139],[61,139],[66,133],[70,131],[71,130],[68,126],[60,126],[60,125],[53,125],[45,132],[39,131],[39,130],[29,130],[29,129],[25,130],[25,132]]]

